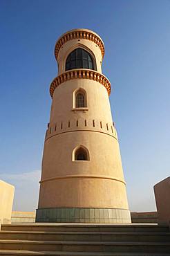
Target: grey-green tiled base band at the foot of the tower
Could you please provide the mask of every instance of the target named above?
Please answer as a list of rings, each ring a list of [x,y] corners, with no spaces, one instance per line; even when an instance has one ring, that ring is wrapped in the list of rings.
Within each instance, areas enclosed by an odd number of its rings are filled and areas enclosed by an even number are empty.
[[[131,213],[115,208],[40,208],[35,222],[131,223]]]

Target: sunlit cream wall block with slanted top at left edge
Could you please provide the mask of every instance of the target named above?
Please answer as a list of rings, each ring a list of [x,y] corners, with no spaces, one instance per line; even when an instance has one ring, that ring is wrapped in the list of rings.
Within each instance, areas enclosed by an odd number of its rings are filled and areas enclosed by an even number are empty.
[[[0,180],[0,224],[10,223],[15,187]]]

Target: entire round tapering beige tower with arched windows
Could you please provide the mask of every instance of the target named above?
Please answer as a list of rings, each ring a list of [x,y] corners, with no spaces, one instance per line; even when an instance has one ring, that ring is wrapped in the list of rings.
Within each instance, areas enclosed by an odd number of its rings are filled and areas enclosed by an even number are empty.
[[[70,30],[55,57],[36,221],[131,223],[104,43],[91,30]]]

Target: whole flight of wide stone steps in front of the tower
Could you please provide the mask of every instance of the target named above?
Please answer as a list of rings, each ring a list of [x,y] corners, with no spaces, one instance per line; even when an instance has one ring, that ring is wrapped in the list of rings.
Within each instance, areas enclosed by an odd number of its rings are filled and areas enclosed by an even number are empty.
[[[0,255],[170,255],[168,227],[76,223],[2,225]]]

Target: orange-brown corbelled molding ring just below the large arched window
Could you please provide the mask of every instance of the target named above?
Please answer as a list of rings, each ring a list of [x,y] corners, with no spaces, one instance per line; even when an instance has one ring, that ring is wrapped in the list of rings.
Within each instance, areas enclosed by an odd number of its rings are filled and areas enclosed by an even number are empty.
[[[111,94],[111,83],[108,81],[108,79],[104,75],[97,73],[97,71],[93,71],[91,69],[78,68],[78,69],[71,69],[70,71],[66,71],[61,75],[58,75],[57,77],[55,77],[53,82],[50,84],[51,98],[53,98],[53,93],[57,88],[57,86],[59,86],[59,84],[62,84],[68,80],[73,80],[77,78],[90,79],[96,82],[100,82],[100,84],[102,84],[106,88],[108,92],[108,96]]]

